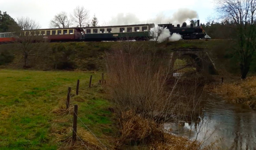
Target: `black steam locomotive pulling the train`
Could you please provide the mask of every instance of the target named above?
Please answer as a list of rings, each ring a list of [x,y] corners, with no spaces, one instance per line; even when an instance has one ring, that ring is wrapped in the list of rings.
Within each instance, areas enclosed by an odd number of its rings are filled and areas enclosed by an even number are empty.
[[[177,24],[176,27],[172,24],[158,24],[158,26],[169,29],[171,34],[180,34],[182,39],[203,39],[207,35],[202,29],[202,24],[199,25],[199,20],[197,20],[197,26],[194,26],[194,24],[187,26],[186,22],[183,22],[181,27],[180,24]]]

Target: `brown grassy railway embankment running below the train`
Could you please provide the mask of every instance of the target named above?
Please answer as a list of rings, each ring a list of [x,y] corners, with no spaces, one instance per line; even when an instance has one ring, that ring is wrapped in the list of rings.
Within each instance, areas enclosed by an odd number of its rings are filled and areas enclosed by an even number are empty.
[[[106,69],[104,58],[106,58],[105,50],[116,46],[117,42],[67,42],[67,43],[50,43],[50,46],[36,52],[35,56],[28,57],[29,69],[33,70],[55,70],[58,69],[78,69],[78,70],[96,70]],[[176,42],[134,42],[135,48],[150,48],[158,54],[168,54],[171,49],[177,48],[208,48],[208,53],[215,62],[218,72],[222,74],[239,72],[239,62],[237,56],[234,55],[231,41],[229,40],[195,40],[195,41],[176,41]],[[53,48],[63,46],[59,51]],[[24,58],[17,53],[15,44],[0,45],[0,61],[2,57],[6,57],[4,53],[13,55],[14,60],[11,63],[2,65],[1,68],[22,69]],[[66,63],[66,64],[65,64]],[[67,66],[67,63],[69,64]],[[256,70],[256,63],[251,66],[252,70]],[[65,68],[66,67],[66,68]]]

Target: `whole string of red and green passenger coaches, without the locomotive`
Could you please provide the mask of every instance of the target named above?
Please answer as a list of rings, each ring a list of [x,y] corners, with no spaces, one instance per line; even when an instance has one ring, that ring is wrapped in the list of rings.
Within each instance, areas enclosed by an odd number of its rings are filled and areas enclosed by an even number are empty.
[[[46,39],[49,42],[62,41],[118,41],[135,39],[149,40],[152,39],[150,29],[154,24],[134,24],[126,26],[99,26],[99,27],[71,27],[71,28],[55,28],[55,29],[36,29],[19,31],[21,37],[37,36]],[[17,35],[17,34],[16,34]],[[0,33],[0,44],[10,43],[19,39],[14,33]]]

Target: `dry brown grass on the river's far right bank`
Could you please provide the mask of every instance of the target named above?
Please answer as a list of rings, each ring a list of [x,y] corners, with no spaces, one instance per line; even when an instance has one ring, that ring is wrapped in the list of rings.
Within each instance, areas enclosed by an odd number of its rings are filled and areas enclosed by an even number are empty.
[[[208,89],[211,92],[220,94],[227,101],[243,103],[256,109],[256,77],[249,77],[239,82],[208,85]]]

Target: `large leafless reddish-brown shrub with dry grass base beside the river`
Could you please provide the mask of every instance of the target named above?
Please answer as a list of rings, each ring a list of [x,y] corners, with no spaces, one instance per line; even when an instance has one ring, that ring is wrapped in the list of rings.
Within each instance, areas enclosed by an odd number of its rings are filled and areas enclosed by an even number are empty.
[[[195,77],[190,81],[173,77],[168,55],[158,55],[155,47],[144,44],[118,42],[106,52],[108,73],[103,86],[118,115],[123,143],[176,148],[171,140],[176,136],[167,134],[163,124],[198,120],[202,91]],[[178,149],[201,146],[196,139],[176,138]]]

